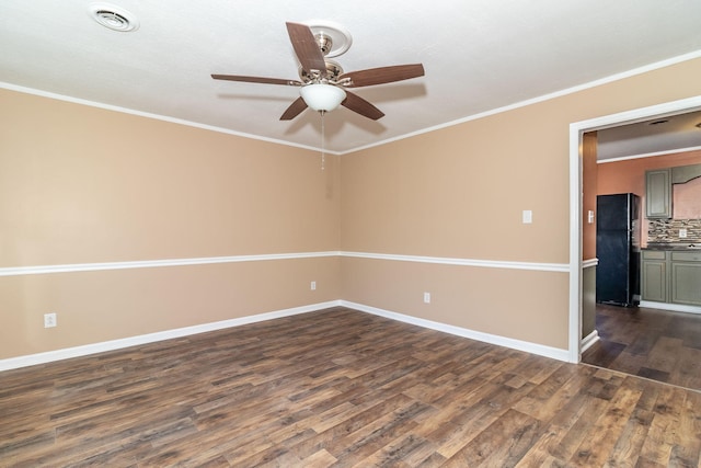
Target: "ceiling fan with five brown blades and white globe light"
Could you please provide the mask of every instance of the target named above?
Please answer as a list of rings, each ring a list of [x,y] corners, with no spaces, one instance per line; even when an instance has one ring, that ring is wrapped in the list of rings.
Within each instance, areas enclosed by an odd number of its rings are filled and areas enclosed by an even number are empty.
[[[424,76],[424,66],[421,64],[370,68],[346,73],[337,62],[326,59],[332,49],[332,35],[325,34],[323,31],[314,34],[312,27],[306,24],[286,24],[292,48],[301,65],[299,80],[240,75],[211,76],[215,80],[300,87],[301,95],[287,107],[280,116],[280,121],[291,121],[307,107],[319,111],[323,115],[338,105],[377,121],[384,115],[382,111],[359,95],[346,91],[348,88],[384,84]]]

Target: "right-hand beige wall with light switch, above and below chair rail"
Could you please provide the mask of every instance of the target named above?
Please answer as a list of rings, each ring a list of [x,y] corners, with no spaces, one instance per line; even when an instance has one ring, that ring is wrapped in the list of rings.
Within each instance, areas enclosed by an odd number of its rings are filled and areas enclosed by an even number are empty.
[[[566,264],[570,124],[698,95],[699,73],[688,61],[343,156],[342,249]],[[379,261],[397,265],[378,274],[376,262],[350,273],[344,260],[344,299],[567,347],[566,272],[456,266],[435,279],[435,264]]]

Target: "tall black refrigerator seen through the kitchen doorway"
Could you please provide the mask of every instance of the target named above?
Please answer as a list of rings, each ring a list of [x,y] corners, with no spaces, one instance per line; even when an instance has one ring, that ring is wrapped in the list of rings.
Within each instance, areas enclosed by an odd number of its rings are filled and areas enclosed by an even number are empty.
[[[596,301],[640,304],[640,197],[632,193],[596,198]]]

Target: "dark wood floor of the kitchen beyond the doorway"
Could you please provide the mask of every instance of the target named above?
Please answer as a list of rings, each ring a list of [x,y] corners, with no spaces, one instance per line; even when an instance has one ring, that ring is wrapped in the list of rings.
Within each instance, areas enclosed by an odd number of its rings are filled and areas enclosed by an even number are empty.
[[[597,304],[582,362],[701,391],[701,315]]]

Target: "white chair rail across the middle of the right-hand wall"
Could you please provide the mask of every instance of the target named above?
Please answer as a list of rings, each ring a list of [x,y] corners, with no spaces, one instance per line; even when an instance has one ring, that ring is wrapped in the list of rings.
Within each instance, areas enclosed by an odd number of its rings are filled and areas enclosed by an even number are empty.
[[[508,262],[502,260],[455,259],[447,256],[395,255],[389,253],[341,252],[341,256],[355,259],[391,260],[397,262],[433,263],[439,265],[480,266],[490,269],[536,270],[567,272],[566,263]]]

